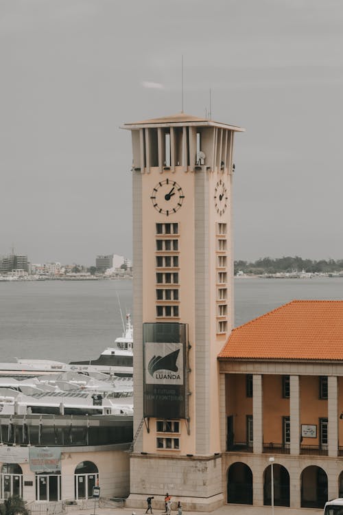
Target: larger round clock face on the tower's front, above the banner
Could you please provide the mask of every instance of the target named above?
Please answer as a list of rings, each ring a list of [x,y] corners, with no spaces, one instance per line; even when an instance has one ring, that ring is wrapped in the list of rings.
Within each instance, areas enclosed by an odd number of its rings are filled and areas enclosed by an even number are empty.
[[[178,183],[165,179],[156,184],[150,198],[158,213],[169,216],[180,209],[185,195]]]

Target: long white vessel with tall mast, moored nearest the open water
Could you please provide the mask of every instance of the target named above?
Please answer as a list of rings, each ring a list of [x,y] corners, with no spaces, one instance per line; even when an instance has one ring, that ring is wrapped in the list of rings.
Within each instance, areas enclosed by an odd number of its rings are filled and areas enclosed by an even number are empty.
[[[115,339],[113,347],[106,347],[97,359],[63,363],[47,359],[16,358],[16,363],[0,363],[0,375],[32,375],[40,372],[79,371],[83,373],[103,372],[115,376],[132,377],[133,373],[133,329],[130,314],[126,315],[126,326],[122,336]]]

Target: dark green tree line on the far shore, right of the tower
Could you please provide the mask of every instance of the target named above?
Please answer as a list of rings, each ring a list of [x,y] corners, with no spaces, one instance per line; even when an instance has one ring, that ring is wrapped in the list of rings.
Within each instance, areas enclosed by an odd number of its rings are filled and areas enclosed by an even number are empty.
[[[310,273],[332,273],[343,271],[343,260],[309,260],[300,258],[298,255],[283,256],[283,258],[259,258],[255,262],[237,260],[234,262],[235,275],[243,273],[263,274],[278,272],[310,272]]]

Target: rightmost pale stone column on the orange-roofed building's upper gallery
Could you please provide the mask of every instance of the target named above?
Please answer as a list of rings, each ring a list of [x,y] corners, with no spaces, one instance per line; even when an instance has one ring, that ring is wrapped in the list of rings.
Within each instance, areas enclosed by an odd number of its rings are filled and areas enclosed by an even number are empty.
[[[337,376],[329,376],[327,378],[327,446],[330,457],[337,457],[338,455],[338,380]],[[331,495],[329,499],[337,494]]]

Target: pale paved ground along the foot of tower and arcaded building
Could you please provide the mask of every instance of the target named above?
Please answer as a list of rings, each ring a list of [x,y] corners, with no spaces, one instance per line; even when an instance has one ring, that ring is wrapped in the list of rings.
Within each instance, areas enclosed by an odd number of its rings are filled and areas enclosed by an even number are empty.
[[[145,510],[140,508],[118,508],[118,507],[95,507],[95,515],[143,515]],[[94,509],[85,508],[84,510],[73,507],[69,510],[70,515],[94,515]],[[154,515],[162,515],[160,510],[154,510]],[[184,512],[185,515],[204,515],[204,512]],[[214,512],[213,515],[273,515],[270,506],[246,506],[246,505],[224,505]],[[171,515],[177,515],[177,512],[171,512]],[[322,510],[307,508],[285,508],[274,507],[274,515],[322,515]]]

